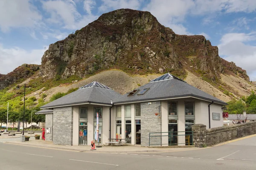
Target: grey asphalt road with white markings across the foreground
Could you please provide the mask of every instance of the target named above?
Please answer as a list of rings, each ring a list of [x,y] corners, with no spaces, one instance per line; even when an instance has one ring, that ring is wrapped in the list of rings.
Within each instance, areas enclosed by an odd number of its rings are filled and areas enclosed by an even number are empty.
[[[0,143],[0,170],[255,170],[256,136],[203,149],[91,153]]]

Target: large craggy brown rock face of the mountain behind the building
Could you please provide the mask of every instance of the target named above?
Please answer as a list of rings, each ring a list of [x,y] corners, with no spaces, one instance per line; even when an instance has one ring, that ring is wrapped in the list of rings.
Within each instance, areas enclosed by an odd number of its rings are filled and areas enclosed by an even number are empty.
[[[42,57],[40,74],[47,79],[71,75],[84,77],[97,70],[120,68],[132,73],[170,71],[181,76],[184,69],[207,73],[215,81],[230,70],[248,79],[244,70],[218,56],[218,47],[204,36],[177,35],[146,11],[119,9],[49,45]]]

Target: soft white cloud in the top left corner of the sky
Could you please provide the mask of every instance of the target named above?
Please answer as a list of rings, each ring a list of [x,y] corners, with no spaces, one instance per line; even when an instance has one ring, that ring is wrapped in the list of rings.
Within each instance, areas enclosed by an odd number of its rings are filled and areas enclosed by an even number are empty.
[[[41,22],[41,14],[29,0],[0,0],[0,29],[34,27]]]

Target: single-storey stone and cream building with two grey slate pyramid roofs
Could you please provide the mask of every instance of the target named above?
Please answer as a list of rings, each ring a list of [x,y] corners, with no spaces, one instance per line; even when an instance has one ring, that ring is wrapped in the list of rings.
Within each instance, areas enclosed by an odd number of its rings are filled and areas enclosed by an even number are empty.
[[[193,124],[223,126],[223,105],[227,103],[164,74],[125,95],[92,82],[42,106],[36,114],[46,114],[46,140],[53,144],[89,145],[99,113],[99,144],[118,138],[148,146],[149,133],[185,135]]]

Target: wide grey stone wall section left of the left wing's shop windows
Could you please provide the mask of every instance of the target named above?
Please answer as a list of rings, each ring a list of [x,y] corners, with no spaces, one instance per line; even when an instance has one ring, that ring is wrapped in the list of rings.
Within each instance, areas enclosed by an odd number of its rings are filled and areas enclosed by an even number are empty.
[[[53,109],[52,142],[53,144],[73,144],[73,107]]]

